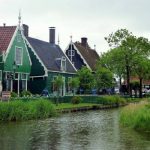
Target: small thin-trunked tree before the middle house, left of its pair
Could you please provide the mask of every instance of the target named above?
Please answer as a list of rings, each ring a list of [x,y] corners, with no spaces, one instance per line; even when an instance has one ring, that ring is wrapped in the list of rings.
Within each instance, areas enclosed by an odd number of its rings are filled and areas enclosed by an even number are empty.
[[[59,95],[60,95],[60,89],[63,86],[64,81],[61,75],[58,75],[58,77],[54,80],[54,87],[57,91],[57,99],[56,99],[56,105],[58,105],[59,101]]]

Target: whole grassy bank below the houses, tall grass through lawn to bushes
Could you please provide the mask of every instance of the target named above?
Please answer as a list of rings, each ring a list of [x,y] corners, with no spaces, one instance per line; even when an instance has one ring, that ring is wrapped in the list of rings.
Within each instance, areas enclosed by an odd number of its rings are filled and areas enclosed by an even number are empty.
[[[32,99],[32,97],[27,99],[18,98],[18,100],[11,99],[9,102],[0,102],[0,121],[43,119],[55,116],[59,110],[63,109],[92,108],[96,105],[98,107],[104,105],[118,107],[120,104],[126,103],[119,96],[97,96],[93,97],[95,99],[92,102],[89,102],[88,99],[86,101],[85,98],[86,96],[84,96],[84,99],[82,96],[70,97],[68,102],[59,101],[58,105],[51,99]]]

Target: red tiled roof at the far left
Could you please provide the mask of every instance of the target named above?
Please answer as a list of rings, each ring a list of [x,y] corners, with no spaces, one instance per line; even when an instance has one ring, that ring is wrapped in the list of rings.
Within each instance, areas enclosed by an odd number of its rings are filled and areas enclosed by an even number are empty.
[[[15,30],[16,26],[0,26],[0,52],[7,50]]]

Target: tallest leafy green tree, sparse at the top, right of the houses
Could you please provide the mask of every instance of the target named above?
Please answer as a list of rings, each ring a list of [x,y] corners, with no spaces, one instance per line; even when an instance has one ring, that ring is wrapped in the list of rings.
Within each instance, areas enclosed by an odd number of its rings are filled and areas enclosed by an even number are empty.
[[[147,74],[147,67],[140,66],[149,66],[146,62],[149,60],[150,43],[148,39],[136,37],[126,29],[117,30],[105,39],[111,49],[101,56],[100,63],[108,67],[118,77],[124,77],[130,94],[131,76],[133,74],[138,76]],[[144,60],[147,61],[144,63]]]

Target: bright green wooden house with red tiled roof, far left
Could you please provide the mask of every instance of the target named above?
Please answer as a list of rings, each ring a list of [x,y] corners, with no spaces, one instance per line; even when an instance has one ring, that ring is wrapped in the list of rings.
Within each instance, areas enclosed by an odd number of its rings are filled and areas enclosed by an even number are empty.
[[[28,89],[31,60],[20,25],[0,26],[0,91]]]

